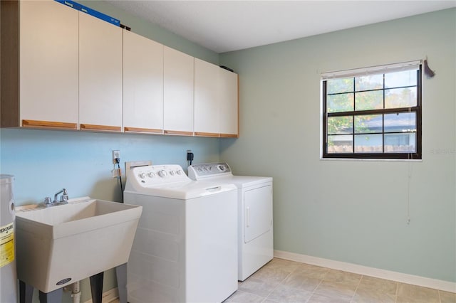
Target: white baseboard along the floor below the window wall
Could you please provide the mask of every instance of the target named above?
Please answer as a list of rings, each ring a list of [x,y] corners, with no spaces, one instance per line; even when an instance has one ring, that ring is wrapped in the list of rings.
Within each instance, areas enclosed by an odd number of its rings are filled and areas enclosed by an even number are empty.
[[[374,267],[367,267],[347,262],[323,259],[321,257],[312,257],[310,255],[300,255],[294,252],[284,252],[281,250],[274,250],[274,257],[296,262],[302,262],[310,265],[328,267],[333,270],[343,270],[345,272],[353,272],[359,275],[378,277],[385,280],[393,280],[396,282],[403,282],[406,284],[418,285],[422,287],[443,290],[445,292],[456,293],[455,282],[448,282],[443,280],[430,279],[427,277],[408,275],[402,272],[392,272],[390,270],[380,270]]]

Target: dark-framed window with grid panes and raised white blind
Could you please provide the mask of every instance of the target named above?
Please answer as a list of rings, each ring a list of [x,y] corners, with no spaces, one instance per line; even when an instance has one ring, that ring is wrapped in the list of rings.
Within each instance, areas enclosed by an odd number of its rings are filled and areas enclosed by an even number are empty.
[[[421,64],[322,74],[323,158],[421,159]]]

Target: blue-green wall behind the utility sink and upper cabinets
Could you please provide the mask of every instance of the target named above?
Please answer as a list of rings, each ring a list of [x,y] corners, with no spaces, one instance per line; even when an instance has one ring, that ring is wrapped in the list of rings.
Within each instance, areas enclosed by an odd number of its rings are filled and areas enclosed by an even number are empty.
[[[101,1],[81,4],[119,18],[135,33],[218,64],[217,53],[152,23]],[[214,138],[0,129],[0,173],[15,176],[18,206],[41,202],[60,188],[67,188],[70,198],[90,196],[120,201],[118,181],[110,175],[113,149],[120,149],[122,167],[125,161],[152,160],[153,164],[180,164],[186,169],[187,149],[192,149],[195,161],[219,161],[219,139]],[[113,287],[117,285],[110,270],[105,273],[104,291]],[[83,280],[81,289],[81,302],[86,302],[90,299],[88,280]],[[72,302],[69,294],[65,294],[64,301]],[[38,302],[38,298],[33,302]]]

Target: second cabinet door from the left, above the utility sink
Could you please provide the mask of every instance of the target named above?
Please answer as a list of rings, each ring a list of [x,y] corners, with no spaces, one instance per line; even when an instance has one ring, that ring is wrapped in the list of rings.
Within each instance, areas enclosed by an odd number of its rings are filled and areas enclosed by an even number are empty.
[[[122,28],[79,14],[81,129],[122,130]]]

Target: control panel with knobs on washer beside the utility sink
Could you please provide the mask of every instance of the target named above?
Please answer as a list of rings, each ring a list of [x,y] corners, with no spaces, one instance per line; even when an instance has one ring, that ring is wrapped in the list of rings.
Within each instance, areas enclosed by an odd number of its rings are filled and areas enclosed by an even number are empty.
[[[153,186],[180,181],[190,181],[180,165],[148,165],[132,169],[133,177],[141,186]]]

